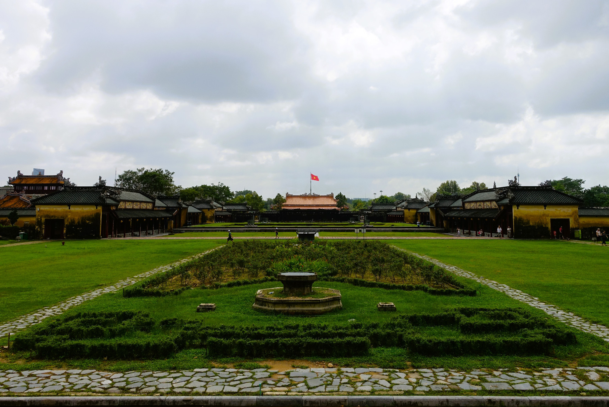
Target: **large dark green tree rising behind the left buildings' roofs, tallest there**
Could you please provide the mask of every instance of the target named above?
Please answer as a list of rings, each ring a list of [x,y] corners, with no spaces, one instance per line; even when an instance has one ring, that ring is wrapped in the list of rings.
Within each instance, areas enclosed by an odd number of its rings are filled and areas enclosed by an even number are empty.
[[[138,168],[135,171],[128,169],[116,179],[117,186],[127,189],[139,189],[151,195],[175,195],[180,189],[174,185],[174,172],[159,169]]]

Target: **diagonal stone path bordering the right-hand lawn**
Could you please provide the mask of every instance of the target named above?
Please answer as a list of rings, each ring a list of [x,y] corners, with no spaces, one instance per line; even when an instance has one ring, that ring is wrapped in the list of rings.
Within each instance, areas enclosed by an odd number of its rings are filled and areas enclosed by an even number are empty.
[[[485,286],[488,286],[492,289],[501,291],[515,300],[524,302],[534,308],[537,308],[538,310],[544,311],[544,313],[560,320],[561,322],[564,322],[566,325],[569,325],[569,327],[573,327],[580,331],[591,333],[609,342],[609,328],[605,327],[605,325],[593,324],[592,322],[585,320],[574,313],[568,313],[566,311],[560,310],[560,308],[558,308],[558,306],[556,305],[541,302],[540,299],[538,299],[537,297],[533,297],[530,294],[527,294],[526,292],[511,288],[510,286],[498,283],[497,281],[488,280],[488,278],[480,277],[479,275],[476,275],[469,271],[465,271],[463,269],[460,269],[459,267],[442,263],[442,261],[439,261],[435,258],[421,255],[415,252],[410,252],[409,250],[400,250],[411,253],[412,255],[415,255],[424,260],[431,261],[431,263],[434,263],[440,267],[444,267],[446,270],[456,275],[459,275],[460,277],[470,278],[471,280],[477,281],[478,283],[484,284]]]

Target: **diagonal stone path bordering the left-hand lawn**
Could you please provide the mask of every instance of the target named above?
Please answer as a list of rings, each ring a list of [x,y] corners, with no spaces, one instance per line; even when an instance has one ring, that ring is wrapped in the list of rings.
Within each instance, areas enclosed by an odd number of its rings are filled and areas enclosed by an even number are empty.
[[[216,249],[217,248],[210,249],[210,250],[207,250],[206,252],[183,258],[183,259],[175,261],[174,263],[171,263],[171,264],[166,264],[164,266],[155,267],[154,269],[149,270],[147,272],[143,272],[143,273],[135,275],[133,277],[125,278],[124,280],[118,281],[117,283],[114,283],[113,285],[103,287],[103,288],[98,288],[93,291],[85,292],[84,294],[79,294],[78,296],[74,296],[65,301],[60,302],[57,305],[45,306],[44,308],[40,308],[40,310],[33,311],[33,313],[29,313],[29,314],[20,316],[18,318],[9,320],[9,322],[5,322],[4,324],[0,325],[0,338],[2,338],[2,336],[6,336],[9,333],[16,333],[18,331],[29,328],[32,325],[40,324],[40,322],[42,322],[44,319],[46,319],[48,317],[63,314],[66,310],[69,310],[69,308],[80,305],[83,302],[85,302],[86,300],[94,299],[95,297],[99,297],[102,294],[106,294],[107,292],[119,291],[120,289],[122,289],[126,286],[130,286],[132,284],[135,284],[138,281],[144,280],[144,278],[148,278],[153,274],[157,274],[157,273],[164,272],[164,271],[169,271],[169,270],[171,270],[171,267],[175,267],[175,266],[178,266],[179,264],[185,263],[186,261],[190,261],[195,258],[199,258],[199,257],[211,252],[212,250],[216,250]]]

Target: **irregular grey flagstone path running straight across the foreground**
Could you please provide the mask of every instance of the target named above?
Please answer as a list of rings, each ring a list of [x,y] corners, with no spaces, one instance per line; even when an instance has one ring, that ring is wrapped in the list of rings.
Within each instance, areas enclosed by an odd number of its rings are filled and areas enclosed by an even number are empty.
[[[259,394],[369,395],[426,394],[430,391],[609,391],[609,367],[575,369],[193,369],[132,372],[97,370],[0,370],[0,395]],[[389,396],[387,396],[389,397]],[[356,400],[356,399],[352,399]],[[363,402],[362,402],[363,403]],[[2,405],[2,403],[0,403]],[[363,406],[364,404],[362,404]]]

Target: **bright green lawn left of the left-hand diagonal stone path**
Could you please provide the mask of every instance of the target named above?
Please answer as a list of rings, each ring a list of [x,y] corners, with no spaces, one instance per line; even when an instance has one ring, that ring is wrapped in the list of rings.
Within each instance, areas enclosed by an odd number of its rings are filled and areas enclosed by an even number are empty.
[[[0,322],[222,244],[220,240],[68,240],[2,248]]]

